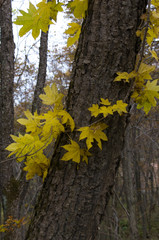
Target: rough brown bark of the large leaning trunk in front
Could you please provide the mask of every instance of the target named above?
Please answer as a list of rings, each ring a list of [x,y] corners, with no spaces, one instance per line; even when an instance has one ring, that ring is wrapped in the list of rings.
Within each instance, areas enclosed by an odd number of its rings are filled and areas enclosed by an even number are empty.
[[[90,0],[75,56],[68,110],[76,126],[91,123],[88,111],[100,98],[125,99],[129,84],[114,83],[118,71],[132,71],[136,29],[144,0]],[[129,101],[129,100],[128,100]],[[127,116],[108,118],[108,142],[92,148],[89,164],[62,162],[66,136],[60,138],[26,240],[93,240],[114,185],[124,144]],[[77,136],[72,136],[76,139]]]

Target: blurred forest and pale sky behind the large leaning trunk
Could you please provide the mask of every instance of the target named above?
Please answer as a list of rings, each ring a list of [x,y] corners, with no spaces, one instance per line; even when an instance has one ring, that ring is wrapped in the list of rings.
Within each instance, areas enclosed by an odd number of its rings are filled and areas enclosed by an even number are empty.
[[[67,2],[67,1],[66,1]],[[1,3],[1,1],[0,1]],[[4,21],[11,27],[11,19],[5,19],[5,13],[11,11],[13,19],[17,14],[18,8],[23,8],[24,1],[6,0],[6,4],[1,5],[0,9],[0,60],[1,60],[1,77],[6,76],[6,83],[11,82],[8,76],[12,70],[5,69],[2,65],[2,59],[13,54],[15,57],[10,65],[14,65],[14,88],[6,90],[10,83],[3,88],[1,78],[1,102],[4,96],[10,93],[5,100],[7,104],[14,94],[14,115],[13,110],[9,113],[8,108],[1,106],[1,166],[0,166],[0,224],[4,224],[9,216],[22,219],[25,217],[25,224],[21,228],[9,229],[6,235],[2,233],[0,239],[23,240],[28,226],[28,222],[35,205],[38,193],[42,186],[42,180],[37,177],[33,180],[26,181],[25,173],[22,171],[23,164],[16,163],[14,159],[10,161],[6,158],[7,153],[4,148],[10,143],[9,135],[24,133],[24,128],[17,123],[17,119],[24,117],[24,111],[29,109],[34,111],[45,111],[41,106],[38,95],[46,84],[56,83],[59,90],[67,94],[71,68],[74,54],[77,47],[75,43],[67,47],[67,35],[61,32],[61,36],[54,37],[58,34],[60,23],[57,23],[56,32],[54,26],[51,26],[49,33],[41,33],[37,41],[30,40],[30,35],[19,39],[17,27],[14,27],[14,43],[6,50],[3,45],[5,38],[8,38],[7,32],[3,32]],[[34,2],[33,2],[34,3]],[[10,6],[10,8],[9,8]],[[28,6],[28,1],[25,1]],[[73,17],[73,16],[72,16]],[[70,14],[62,13],[60,16],[62,31],[67,28],[67,23],[71,21]],[[65,21],[65,24],[63,24]],[[6,24],[6,23],[5,23]],[[6,27],[6,26],[5,26]],[[6,34],[6,36],[5,36]],[[10,30],[9,38],[12,38]],[[49,35],[49,36],[48,36]],[[153,48],[159,56],[159,42],[153,44]],[[6,53],[6,51],[8,51]],[[150,53],[145,54],[145,62],[153,63],[156,66],[155,77],[159,78],[159,63],[150,58]],[[11,67],[11,69],[12,69]],[[6,74],[6,72],[7,74]],[[6,92],[5,92],[6,91]],[[7,92],[8,91],[8,92]],[[13,91],[13,92],[12,92]],[[5,95],[4,95],[5,94]],[[4,106],[3,106],[4,107]],[[11,109],[11,108],[10,108]],[[3,110],[3,111],[2,111]],[[131,116],[129,126],[125,135],[125,148],[122,154],[120,170],[115,179],[115,187],[112,192],[111,200],[106,209],[107,218],[99,228],[99,240],[139,240],[139,239],[159,239],[159,108],[151,110],[148,115],[136,109],[132,102]],[[10,114],[10,115],[9,115]],[[8,119],[14,121],[9,123]],[[4,126],[3,124],[7,125]],[[10,127],[8,127],[10,126]],[[6,132],[6,128],[9,130]],[[4,130],[4,132],[3,132]],[[5,135],[5,137],[4,137]],[[115,149],[114,149],[115,151]],[[51,150],[48,149],[48,155]],[[12,169],[9,170],[8,169]],[[7,177],[4,177],[4,174]],[[5,179],[5,180],[4,180]],[[9,180],[11,179],[11,180]]]

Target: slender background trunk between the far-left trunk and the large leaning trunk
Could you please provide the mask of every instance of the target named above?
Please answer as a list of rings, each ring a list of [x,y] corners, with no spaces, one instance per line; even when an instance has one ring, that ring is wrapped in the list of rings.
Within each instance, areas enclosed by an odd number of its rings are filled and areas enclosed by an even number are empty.
[[[47,48],[48,48],[48,32],[41,32],[40,48],[39,48],[39,69],[37,84],[34,91],[34,99],[32,103],[32,113],[36,110],[40,113],[41,99],[39,95],[43,93],[43,88],[46,80],[46,68],[47,68]]]

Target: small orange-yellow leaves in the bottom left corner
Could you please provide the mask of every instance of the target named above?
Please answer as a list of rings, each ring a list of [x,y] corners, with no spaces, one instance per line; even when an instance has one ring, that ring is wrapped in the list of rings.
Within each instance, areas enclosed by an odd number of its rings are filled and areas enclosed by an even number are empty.
[[[13,216],[9,216],[5,224],[0,225],[0,232],[13,232],[16,228],[20,228],[26,223],[24,220],[24,217],[17,220],[13,219]]]

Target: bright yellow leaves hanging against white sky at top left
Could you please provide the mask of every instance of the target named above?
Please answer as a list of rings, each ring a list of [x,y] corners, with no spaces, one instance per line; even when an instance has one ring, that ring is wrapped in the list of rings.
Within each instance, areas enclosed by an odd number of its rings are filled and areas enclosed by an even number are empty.
[[[40,30],[47,32],[48,26],[53,23],[51,19],[56,21],[57,13],[63,11],[62,3],[56,4],[56,0],[51,2],[42,0],[36,6],[37,8],[30,2],[28,12],[19,10],[22,16],[18,16],[14,23],[23,25],[19,31],[20,37],[32,30],[32,36],[36,39],[40,34]]]

